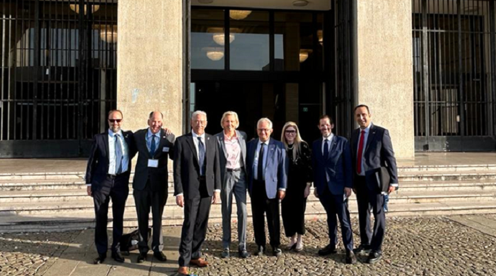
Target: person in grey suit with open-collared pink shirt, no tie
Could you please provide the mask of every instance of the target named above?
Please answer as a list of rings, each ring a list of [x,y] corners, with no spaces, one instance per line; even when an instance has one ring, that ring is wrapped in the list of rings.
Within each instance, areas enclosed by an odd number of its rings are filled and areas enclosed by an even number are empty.
[[[249,257],[246,249],[246,133],[236,130],[239,126],[238,114],[233,111],[224,113],[220,119],[223,132],[216,135],[219,146],[220,179],[223,184],[220,190],[223,215],[223,253],[229,257],[231,244],[231,213],[233,193],[238,207],[238,253],[242,258]]]

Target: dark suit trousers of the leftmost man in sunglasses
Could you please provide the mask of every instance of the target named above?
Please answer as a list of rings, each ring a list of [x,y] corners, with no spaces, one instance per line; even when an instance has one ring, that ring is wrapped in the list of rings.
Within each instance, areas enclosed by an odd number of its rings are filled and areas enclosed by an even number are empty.
[[[107,176],[98,187],[93,188],[96,251],[99,254],[107,253],[108,207],[110,199],[112,199],[112,252],[118,252],[120,251],[120,241],[123,235],[125,201],[127,195],[129,195],[129,175]]]

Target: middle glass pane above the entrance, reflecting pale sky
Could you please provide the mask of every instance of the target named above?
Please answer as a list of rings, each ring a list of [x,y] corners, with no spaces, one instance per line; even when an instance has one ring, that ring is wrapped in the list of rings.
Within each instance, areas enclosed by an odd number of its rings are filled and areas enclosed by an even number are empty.
[[[230,26],[238,30],[230,45],[231,70],[269,70],[269,12],[253,11]]]

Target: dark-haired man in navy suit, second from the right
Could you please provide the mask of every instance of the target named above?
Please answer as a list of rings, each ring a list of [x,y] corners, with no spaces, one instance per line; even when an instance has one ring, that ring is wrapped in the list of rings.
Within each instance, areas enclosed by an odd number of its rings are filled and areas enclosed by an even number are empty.
[[[348,197],[352,188],[351,149],[346,138],[333,135],[331,117],[320,118],[318,128],[322,138],[313,142],[312,166],[314,194],[324,206],[329,227],[329,244],[319,250],[321,256],[334,254],[338,244],[338,215],[341,234],[346,248],[347,264],[355,264],[353,254],[353,232],[351,231]]]

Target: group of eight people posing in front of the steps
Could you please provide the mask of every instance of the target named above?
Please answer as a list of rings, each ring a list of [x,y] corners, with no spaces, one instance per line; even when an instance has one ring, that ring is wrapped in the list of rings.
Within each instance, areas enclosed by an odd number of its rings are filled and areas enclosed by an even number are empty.
[[[129,193],[131,160],[138,154],[133,180],[133,195],[138,215],[139,255],[144,262],[149,251],[148,220],[152,210],[152,250],[156,259],[165,262],[163,254],[162,215],[167,201],[167,159],[174,162],[174,196],[184,209],[180,239],[178,274],[188,275],[190,265],[208,266],[201,255],[207,233],[211,204],[222,204],[223,251],[220,257],[231,257],[231,213],[236,198],[238,221],[238,256],[250,257],[247,251],[247,193],[251,197],[256,256],[267,254],[265,217],[269,229],[272,255],[280,256],[280,216],[289,237],[286,250],[304,248],[304,213],[313,183],[327,213],[329,244],[319,255],[336,253],[338,219],[346,250],[347,264],[355,264],[355,254],[368,253],[367,262],[382,258],[382,241],[386,228],[384,195],[397,189],[397,169],[388,130],[371,123],[368,106],[354,109],[360,128],[353,131],[351,142],[333,134],[333,119],[320,118],[322,138],[311,146],[300,135],[298,126],[287,122],[280,141],[273,139],[272,122],[262,118],[257,123],[258,137],[248,141],[245,132],[237,130],[236,112],[225,112],[220,124],[223,132],[205,133],[207,114],[196,111],[191,117],[192,131],[175,139],[163,128],[161,112],[149,115],[149,128],[134,134],[121,130],[123,114],[109,113],[110,128],[96,135],[87,165],[87,193],[93,197],[96,229],[95,244],[99,253],[95,264],[107,253],[107,211],[112,199],[112,258],[124,259],[119,250],[123,234],[123,213]],[[358,201],[360,246],[353,247],[353,233],[348,208],[352,191]],[[375,222],[371,228],[370,215]]]

